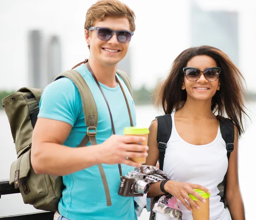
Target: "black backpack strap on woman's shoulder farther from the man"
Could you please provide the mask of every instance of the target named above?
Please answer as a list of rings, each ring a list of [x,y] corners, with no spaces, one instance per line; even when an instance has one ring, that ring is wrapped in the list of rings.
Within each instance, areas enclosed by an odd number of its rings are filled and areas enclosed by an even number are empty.
[[[226,143],[227,148],[227,158],[229,160],[230,153],[234,149],[234,140],[235,140],[235,127],[231,119],[225,117],[218,117],[220,124],[221,136]]]

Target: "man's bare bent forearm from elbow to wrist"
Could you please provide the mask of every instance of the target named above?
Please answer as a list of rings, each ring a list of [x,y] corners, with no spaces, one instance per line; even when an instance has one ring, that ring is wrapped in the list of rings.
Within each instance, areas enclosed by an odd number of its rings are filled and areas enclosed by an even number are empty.
[[[64,176],[100,163],[98,146],[72,148],[41,143],[41,151],[31,151],[33,169],[38,174]]]

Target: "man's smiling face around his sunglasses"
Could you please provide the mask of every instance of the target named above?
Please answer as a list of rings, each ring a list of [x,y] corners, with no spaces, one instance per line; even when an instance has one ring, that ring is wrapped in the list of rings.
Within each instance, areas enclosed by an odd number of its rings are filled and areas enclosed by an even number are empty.
[[[130,31],[130,24],[127,17],[106,16],[102,21],[96,21],[95,27],[109,28],[114,31]],[[113,34],[110,40],[100,40],[97,37],[97,30],[85,34],[87,44],[90,45],[90,57],[95,58],[105,66],[116,65],[122,60],[130,43],[120,43],[116,34]]]

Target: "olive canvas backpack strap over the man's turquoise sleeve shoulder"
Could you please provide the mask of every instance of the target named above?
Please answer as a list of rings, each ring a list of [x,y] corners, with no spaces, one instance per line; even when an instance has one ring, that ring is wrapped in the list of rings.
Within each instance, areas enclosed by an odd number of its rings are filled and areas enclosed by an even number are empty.
[[[76,70],[68,70],[61,74],[58,74],[58,76],[55,77],[53,81],[58,80],[61,77],[67,77],[70,80],[72,80],[73,83],[76,85],[77,89],[79,90],[79,94],[81,96],[85,125],[88,127],[87,133],[85,134],[83,140],[81,140],[79,147],[86,146],[89,140],[91,142],[91,145],[96,145],[96,127],[98,125],[98,111],[95,100],[93,98],[93,94],[91,93],[89,86],[87,85],[81,74]],[[102,177],[102,183],[106,194],[107,206],[111,206],[111,195],[108,188],[108,182],[105,175],[105,171],[103,169],[102,164],[98,164],[97,166]]]

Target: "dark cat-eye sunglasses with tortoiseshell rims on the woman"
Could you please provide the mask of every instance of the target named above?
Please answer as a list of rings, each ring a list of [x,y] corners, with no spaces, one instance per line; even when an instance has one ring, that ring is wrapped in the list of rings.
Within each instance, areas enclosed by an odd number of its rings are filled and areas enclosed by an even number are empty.
[[[218,80],[218,77],[221,73],[220,67],[210,67],[205,69],[204,71],[201,71],[200,69],[197,69],[195,67],[185,67],[183,68],[183,72],[189,81],[197,81],[201,74],[204,74],[204,77],[208,81],[216,81]]]

